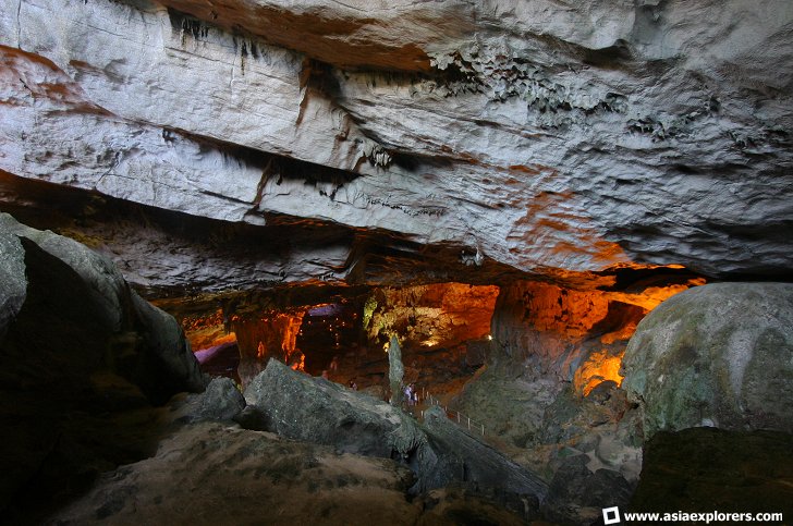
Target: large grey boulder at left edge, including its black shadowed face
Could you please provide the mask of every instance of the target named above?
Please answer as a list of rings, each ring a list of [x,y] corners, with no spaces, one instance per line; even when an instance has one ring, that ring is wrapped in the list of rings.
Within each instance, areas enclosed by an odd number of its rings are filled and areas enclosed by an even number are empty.
[[[115,412],[200,391],[204,378],[175,320],[137,298],[107,259],[8,215],[0,248],[0,297],[13,307],[0,335],[5,510],[22,493],[62,497],[135,456],[113,435]]]

